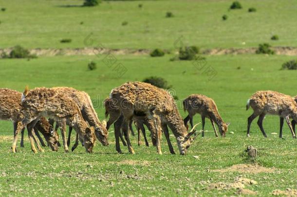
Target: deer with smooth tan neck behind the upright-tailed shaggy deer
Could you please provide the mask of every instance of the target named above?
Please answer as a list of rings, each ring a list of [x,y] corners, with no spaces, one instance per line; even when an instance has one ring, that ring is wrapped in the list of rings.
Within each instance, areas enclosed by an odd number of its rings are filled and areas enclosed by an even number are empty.
[[[55,87],[53,90],[56,90],[58,93],[64,94],[71,98],[76,105],[79,107],[80,112],[85,121],[89,123],[90,126],[95,128],[95,135],[96,138],[99,140],[100,143],[104,146],[108,146],[108,131],[106,129],[106,123],[100,122],[97,116],[97,113],[93,107],[92,100],[88,93],[80,90],[75,90],[74,88],[69,87]],[[53,125],[54,122],[51,120],[50,123]],[[57,127],[57,125],[56,125]],[[56,128],[57,129],[57,128]],[[67,145],[70,145],[70,137],[71,137],[72,127],[69,126],[69,133],[68,133],[68,140]],[[76,135],[77,142],[78,136]],[[76,144],[76,143],[75,143]],[[77,145],[74,145],[72,150],[76,148]]]

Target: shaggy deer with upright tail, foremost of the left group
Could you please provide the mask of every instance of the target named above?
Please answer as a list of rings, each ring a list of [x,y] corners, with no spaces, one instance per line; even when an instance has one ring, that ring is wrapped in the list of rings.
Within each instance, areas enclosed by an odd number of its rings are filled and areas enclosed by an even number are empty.
[[[34,153],[37,153],[33,143],[32,128],[44,116],[52,118],[58,123],[66,153],[69,152],[66,142],[66,124],[73,127],[78,133],[79,138],[84,142],[86,152],[93,152],[93,145],[96,140],[94,127],[89,127],[83,119],[79,107],[68,96],[50,88],[35,88],[29,91],[28,87],[26,87],[21,103],[22,107],[19,114],[21,121],[18,123],[14,136],[13,150],[16,147],[19,131],[27,126],[31,149]]]

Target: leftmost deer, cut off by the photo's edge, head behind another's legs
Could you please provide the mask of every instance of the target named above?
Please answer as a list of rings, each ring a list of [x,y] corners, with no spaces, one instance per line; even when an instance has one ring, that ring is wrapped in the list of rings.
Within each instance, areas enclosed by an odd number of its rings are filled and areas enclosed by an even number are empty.
[[[13,121],[14,133],[17,130],[18,123],[21,121],[19,119],[21,96],[22,94],[16,90],[0,89],[0,120]],[[22,131],[24,131],[24,129],[25,128],[23,128]],[[41,117],[34,127],[37,136],[39,135],[38,130],[44,136],[51,149],[57,151],[58,135],[44,117]],[[38,149],[43,151],[35,137],[34,141],[37,143]],[[21,146],[23,146],[23,144],[21,144]],[[13,149],[13,152],[16,152],[16,149]]]

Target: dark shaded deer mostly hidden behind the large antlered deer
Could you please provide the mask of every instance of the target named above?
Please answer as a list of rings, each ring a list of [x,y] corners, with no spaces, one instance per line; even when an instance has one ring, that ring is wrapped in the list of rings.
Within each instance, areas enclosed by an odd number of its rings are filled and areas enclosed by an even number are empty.
[[[108,116],[110,116],[110,118],[109,118],[109,120],[107,122],[107,129],[109,129],[112,124],[114,124],[116,150],[118,151],[118,153],[122,153],[121,149],[119,147],[119,139],[118,138],[121,139],[124,146],[127,146],[127,144],[126,144],[126,142],[125,142],[125,140],[124,140],[124,138],[122,136],[122,133],[120,132],[120,130],[122,128],[122,125],[123,125],[123,115],[121,114],[120,109],[113,105],[110,98],[106,98],[104,100],[104,106],[105,106],[105,117],[108,118]],[[147,140],[147,137],[146,137],[146,131],[145,131],[145,128],[144,128],[143,125],[146,125],[148,128],[150,128],[149,130],[151,132],[153,132],[154,131],[152,129],[153,123],[146,118],[144,113],[134,114],[133,120],[134,120],[135,125],[137,127],[138,145],[141,144],[141,141],[140,141],[140,130],[141,130],[142,133],[143,133],[144,139],[145,139],[145,143],[146,143],[147,146],[149,146],[148,145],[148,140]],[[131,127],[131,123],[132,123],[132,120],[129,123],[130,127]],[[155,145],[156,135],[154,133],[151,133],[151,140],[152,140],[152,143]]]

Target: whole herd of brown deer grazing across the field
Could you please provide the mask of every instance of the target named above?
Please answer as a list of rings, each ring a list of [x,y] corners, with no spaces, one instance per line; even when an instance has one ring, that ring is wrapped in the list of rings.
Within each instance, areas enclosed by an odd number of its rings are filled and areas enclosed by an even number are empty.
[[[21,146],[23,146],[24,129],[27,127],[31,148],[35,153],[37,150],[34,143],[36,143],[38,150],[43,152],[36,137],[42,146],[46,146],[38,131],[44,136],[48,146],[53,151],[58,150],[58,128],[61,130],[65,152],[68,152],[71,131],[74,128],[76,139],[72,151],[80,141],[86,151],[91,153],[96,139],[104,146],[109,145],[108,129],[113,124],[116,151],[122,153],[119,141],[121,139],[122,143],[128,146],[129,152],[134,154],[128,133],[128,129],[129,127],[132,129],[132,122],[134,121],[138,130],[138,145],[140,144],[141,130],[148,146],[144,128],[144,125],[146,125],[151,132],[150,137],[153,145],[157,148],[157,152],[162,154],[160,140],[163,131],[169,151],[174,154],[167,128],[169,126],[176,138],[180,154],[184,155],[190,143],[196,137],[194,135],[196,125],[193,125],[193,116],[196,113],[201,114],[202,136],[204,136],[205,118],[210,119],[216,137],[218,137],[218,133],[215,124],[223,137],[229,125],[223,121],[215,102],[211,98],[202,94],[192,94],[187,97],[183,102],[183,106],[184,110],[187,110],[188,116],[183,120],[173,97],[166,90],[142,82],[128,82],[111,90],[110,97],[104,101],[104,106],[106,117],[110,117],[108,122],[99,121],[91,98],[84,91],[67,87],[36,88],[33,90],[28,90],[26,87],[23,93],[0,89],[0,119],[13,121],[14,125],[13,152],[17,151],[16,145],[19,133],[22,134]],[[250,135],[250,125],[257,116],[260,116],[258,125],[264,137],[266,137],[262,121],[266,114],[272,114],[280,117],[279,137],[282,137],[282,126],[285,119],[293,138],[296,138],[297,97],[292,98],[269,90],[257,91],[248,100],[246,109],[249,107],[252,107],[254,112],[248,117],[248,137]],[[49,119],[47,120],[45,117]],[[292,123],[290,118],[293,119]],[[188,121],[192,127],[190,132],[187,132]],[[67,140],[66,125],[69,125]],[[193,135],[194,137],[191,138]]]

